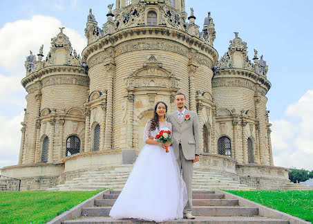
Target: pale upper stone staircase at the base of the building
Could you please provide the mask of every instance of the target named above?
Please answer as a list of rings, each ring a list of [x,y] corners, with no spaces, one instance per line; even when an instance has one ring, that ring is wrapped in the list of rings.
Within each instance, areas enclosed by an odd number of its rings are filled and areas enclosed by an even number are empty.
[[[66,180],[64,184],[48,189],[48,191],[90,191],[95,189],[121,190],[126,183],[133,165],[122,165],[111,171],[88,171],[79,178]],[[193,170],[193,189],[253,189],[242,185],[213,171]]]

